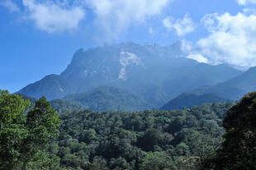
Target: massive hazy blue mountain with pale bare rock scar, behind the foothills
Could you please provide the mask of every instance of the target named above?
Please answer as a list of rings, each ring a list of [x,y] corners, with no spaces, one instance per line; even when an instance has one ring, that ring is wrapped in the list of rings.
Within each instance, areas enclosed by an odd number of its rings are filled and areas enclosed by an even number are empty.
[[[42,95],[60,99],[100,86],[114,86],[159,108],[184,91],[216,85],[241,73],[226,65],[211,66],[185,56],[180,42],[166,47],[126,42],[79,49],[59,76],[46,76],[18,93],[37,99]]]

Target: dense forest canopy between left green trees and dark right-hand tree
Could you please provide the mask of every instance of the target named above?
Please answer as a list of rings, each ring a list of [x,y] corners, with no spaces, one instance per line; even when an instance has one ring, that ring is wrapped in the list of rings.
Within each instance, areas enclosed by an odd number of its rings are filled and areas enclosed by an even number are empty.
[[[197,169],[200,159],[219,147],[224,132],[221,119],[231,105],[63,113],[59,116],[60,163],[63,168],[86,170]]]

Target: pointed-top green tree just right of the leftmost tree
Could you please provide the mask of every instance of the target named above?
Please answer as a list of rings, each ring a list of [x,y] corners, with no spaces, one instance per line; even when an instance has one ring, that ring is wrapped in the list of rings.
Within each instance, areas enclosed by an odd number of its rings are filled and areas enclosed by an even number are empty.
[[[26,128],[29,131],[29,135],[26,138],[26,146],[24,146],[28,151],[24,162],[30,163],[32,160],[32,162],[37,162],[37,164],[45,164],[47,158],[58,159],[55,158],[54,154],[46,154],[51,145],[50,141],[59,136],[58,126],[58,114],[51,108],[50,103],[46,101],[45,97],[37,100],[35,107],[26,116]],[[35,167],[35,169],[40,168]]]

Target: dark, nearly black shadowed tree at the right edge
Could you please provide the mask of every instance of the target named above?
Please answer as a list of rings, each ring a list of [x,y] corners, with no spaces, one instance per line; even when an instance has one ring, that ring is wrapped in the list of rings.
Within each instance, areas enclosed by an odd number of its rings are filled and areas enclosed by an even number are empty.
[[[224,142],[202,169],[256,169],[256,93],[246,94],[223,121]]]

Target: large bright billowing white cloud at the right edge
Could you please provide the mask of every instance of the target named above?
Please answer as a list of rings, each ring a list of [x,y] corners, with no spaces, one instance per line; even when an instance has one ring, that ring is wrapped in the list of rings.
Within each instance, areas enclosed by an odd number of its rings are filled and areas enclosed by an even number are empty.
[[[211,63],[234,66],[256,66],[256,15],[238,13],[235,16],[210,14],[202,19],[209,31],[197,42],[201,55]]]

